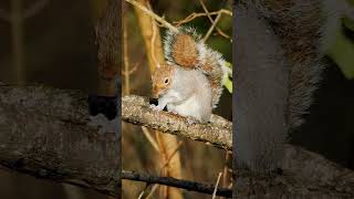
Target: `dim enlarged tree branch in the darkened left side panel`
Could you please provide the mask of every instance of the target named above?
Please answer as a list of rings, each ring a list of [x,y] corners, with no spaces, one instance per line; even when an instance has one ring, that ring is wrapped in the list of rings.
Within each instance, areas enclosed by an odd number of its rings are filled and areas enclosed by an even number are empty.
[[[118,143],[88,122],[81,92],[0,84],[0,166],[116,195]]]

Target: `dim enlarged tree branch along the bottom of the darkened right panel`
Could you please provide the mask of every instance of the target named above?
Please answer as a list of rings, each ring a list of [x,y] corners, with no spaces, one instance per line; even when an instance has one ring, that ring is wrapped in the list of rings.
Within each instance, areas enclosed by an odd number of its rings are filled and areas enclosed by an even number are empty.
[[[284,154],[282,171],[277,175],[237,169],[233,197],[354,198],[353,170],[292,145],[285,146]]]

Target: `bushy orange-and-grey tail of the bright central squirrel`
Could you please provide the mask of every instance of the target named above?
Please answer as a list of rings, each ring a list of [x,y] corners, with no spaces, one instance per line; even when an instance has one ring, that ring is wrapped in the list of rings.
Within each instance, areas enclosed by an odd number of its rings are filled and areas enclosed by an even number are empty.
[[[225,61],[220,53],[208,48],[192,28],[168,30],[164,41],[165,59],[189,70],[202,71],[212,88],[212,106],[219,103],[222,93]]]

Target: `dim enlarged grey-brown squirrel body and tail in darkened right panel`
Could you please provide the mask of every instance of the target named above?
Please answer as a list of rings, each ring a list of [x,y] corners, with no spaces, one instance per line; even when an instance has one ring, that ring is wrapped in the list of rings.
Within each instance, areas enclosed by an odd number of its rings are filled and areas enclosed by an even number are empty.
[[[341,18],[353,12],[345,0],[237,0],[233,13],[235,166],[270,174],[309,114]]]

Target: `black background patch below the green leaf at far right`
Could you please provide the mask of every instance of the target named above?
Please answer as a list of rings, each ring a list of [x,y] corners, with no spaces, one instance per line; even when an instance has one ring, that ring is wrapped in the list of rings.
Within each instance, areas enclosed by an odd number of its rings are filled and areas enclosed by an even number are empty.
[[[354,80],[329,63],[310,114],[291,142],[354,169]]]

